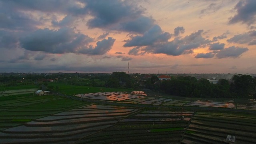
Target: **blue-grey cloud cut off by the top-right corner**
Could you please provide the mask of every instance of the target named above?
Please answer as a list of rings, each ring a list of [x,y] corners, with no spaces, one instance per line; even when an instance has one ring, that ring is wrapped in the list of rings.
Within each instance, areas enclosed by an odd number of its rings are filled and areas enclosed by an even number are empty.
[[[234,9],[237,14],[229,20],[230,24],[242,22],[251,25],[256,21],[256,0],[240,0]]]

